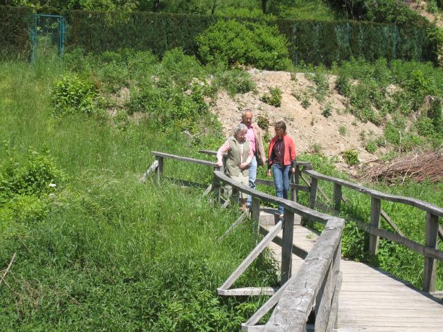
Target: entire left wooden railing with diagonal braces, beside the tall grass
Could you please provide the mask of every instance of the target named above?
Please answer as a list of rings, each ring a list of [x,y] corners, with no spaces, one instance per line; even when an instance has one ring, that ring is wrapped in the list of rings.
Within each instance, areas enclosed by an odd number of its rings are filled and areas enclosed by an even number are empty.
[[[232,186],[234,190],[245,192],[252,196],[251,217],[255,225],[255,231],[259,230],[261,202],[283,205],[284,221],[279,221],[267,231],[260,228],[264,237],[244,259],[242,264],[226,279],[223,285],[217,288],[220,295],[272,295],[269,300],[244,324],[244,331],[305,331],[307,320],[311,311],[314,311],[314,326],[316,331],[332,331],[337,322],[338,294],[341,287],[340,258],[341,258],[341,234],[344,220],[335,216],[329,216],[317,212],[296,202],[279,199],[275,196],[253,190],[241,183],[228,178],[218,170],[215,163],[165,154],[152,151],[156,160],[143,174],[142,180],[147,175],[156,172],[160,178],[163,172],[164,158],[208,165],[214,167],[214,180],[208,187],[213,190],[215,196],[219,196],[221,182]],[[273,185],[273,182],[269,181]],[[292,190],[303,189],[302,186],[293,186]],[[206,190],[206,192],[208,192]],[[293,244],[293,221],[294,214],[299,214],[312,221],[320,221],[326,224],[325,230],[320,234],[318,241],[309,253],[297,248]],[[237,223],[237,221],[235,222]],[[282,238],[278,237],[283,230]],[[282,246],[280,266],[281,285],[278,290],[274,288],[233,288],[230,286],[238,279],[260,252],[274,241]],[[305,259],[296,276],[291,277],[291,255],[298,255]],[[269,322],[265,325],[256,325],[267,312],[275,306]]]

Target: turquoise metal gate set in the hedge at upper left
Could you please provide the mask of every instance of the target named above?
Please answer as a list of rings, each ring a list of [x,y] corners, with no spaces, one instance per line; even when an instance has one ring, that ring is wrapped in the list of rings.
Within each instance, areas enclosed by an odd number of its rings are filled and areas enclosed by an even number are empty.
[[[32,60],[53,52],[57,52],[59,56],[63,55],[66,37],[64,17],[35,14],[33,20],[33,28],[30,33]]]

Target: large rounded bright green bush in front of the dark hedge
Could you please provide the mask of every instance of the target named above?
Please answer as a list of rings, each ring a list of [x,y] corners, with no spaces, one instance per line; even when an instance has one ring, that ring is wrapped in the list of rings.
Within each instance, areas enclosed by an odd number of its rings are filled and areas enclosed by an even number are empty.
[[[242,64],[260,69],[285,69],[291,64],[287,39],[266,24],[218,21],[197,37],[206,63]]]

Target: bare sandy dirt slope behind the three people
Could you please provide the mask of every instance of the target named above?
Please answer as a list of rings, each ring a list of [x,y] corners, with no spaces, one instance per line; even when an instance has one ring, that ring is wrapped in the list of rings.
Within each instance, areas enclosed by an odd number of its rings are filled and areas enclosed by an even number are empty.
[[[341,153],[352,147],[359,152],[359,159],[363,163],[377,158],[364,149],[361,131],[364,130],[367,135],[373,133],[378,136],[383,133],[383,130],[370,122],[362,123],[352,114],[345,112],[346,98],[334,91],[336,77],[332,75],[328,77],[329,94],[325,100],[320,104],[314,97],[311,97],[310,105],[305,109],[293,95],[307,91],[309,87],[314,88],[314,83],[307,80],[305,74],[297,73],[296,80],[291,80],[290,73],[283,71],[251,69],[249,73],[257,84],[255,92],[230,98],[226,92],[220,91],[211,108],[223,124],[226,136],[239,122],[242,109],[248,107],[253,109],[255,119],[259,115],[269,119],[268,132],[271,136],[273,136],[273,123],[278,120],[287,122],[289,135],[296,143],[296,149],[299,152],[318,150],[321,147],[320,151],[326,156],[337,156],[340,162],[338,167],[345,167]],[[273,107],[260,100],[260,97],[268,91],[269,86],[278,86],[282,90],[281,107]],[[332,104],[332,115],[325,118],[322,111],[328,102]],[[377,154],[381,153],[383,151],[378,149]]]

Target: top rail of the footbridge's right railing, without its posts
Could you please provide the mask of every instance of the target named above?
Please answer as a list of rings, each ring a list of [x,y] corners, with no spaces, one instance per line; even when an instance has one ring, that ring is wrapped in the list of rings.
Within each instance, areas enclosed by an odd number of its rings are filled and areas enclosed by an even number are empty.
[[[415,208],[422,209],[424,211],[431,212],[436,216],[443,216],[443,208],[438,207],[437,205],[433,205],[431,203],[421,201],[419,199],[411,199],[410,197],[397,196],[392,194],[385,194],[383,192],[379,192],[377,190],[372,190],[367,187],[363,187],[363,185],[359,185],[356,183],[352,183],[350,181],[342,180],[341,178],[334,178],[332,176],[326,176],[315,172],[313,170],[305,170],[306,174],[309,174],[311,178],[317,178],[319,180],[329,181],[332,183],[337,183],[339,185],[343,185],[344,187],[348,187],[350,189],[361,192],[362,194],[368,194],[371,197],[376,199],[384,199],[386,201],[396,202],[396,203],[404,203],[406,205],[414,206]]]

